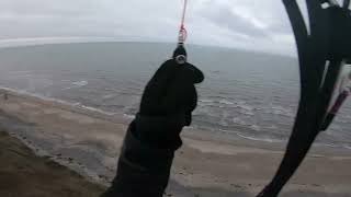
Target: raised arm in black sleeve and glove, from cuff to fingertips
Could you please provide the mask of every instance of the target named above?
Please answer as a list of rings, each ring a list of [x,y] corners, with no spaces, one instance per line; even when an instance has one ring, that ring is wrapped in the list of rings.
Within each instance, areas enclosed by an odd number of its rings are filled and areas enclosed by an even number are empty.
[[[194,84],[203,73],[190,63],[166,61],[145,88],[139,113],[131,124],[120,155],[117,174],[102,197],[161,197],[180,132],[196,107]]]

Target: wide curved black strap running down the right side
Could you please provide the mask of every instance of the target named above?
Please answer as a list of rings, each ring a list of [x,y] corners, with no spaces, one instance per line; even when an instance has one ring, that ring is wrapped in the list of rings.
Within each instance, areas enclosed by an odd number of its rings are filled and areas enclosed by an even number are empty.
[[[278,196],[305,159],[320,131],[342,60],[346,58],[336,49],[340,43],[331,45],[336,42],[335,32],[339,32],[338,28],[341,31],[341,26],[335,25],[340,8],[333,8],[335,5],[330,4],[331,8],[322,9],[321,3],[325,1],[306,0],[310,24],[310,34],[308,34],[296,1],[283,0],[283,2],[298,48],[301,101],[283,161],[272,182],[259,195],[262,197]]]

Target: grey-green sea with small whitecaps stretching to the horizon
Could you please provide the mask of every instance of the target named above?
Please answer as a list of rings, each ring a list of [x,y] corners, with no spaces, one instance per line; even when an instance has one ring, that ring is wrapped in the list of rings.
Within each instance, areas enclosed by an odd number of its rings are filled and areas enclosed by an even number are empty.
[[[173,45],[61,44],[0,49],[0,86],[133,116]],[[262,141],[287,140],[298,96],[297,58],[189,46],[205,74],[193,127]],[[351,148],[351,102],[318,143]]]

